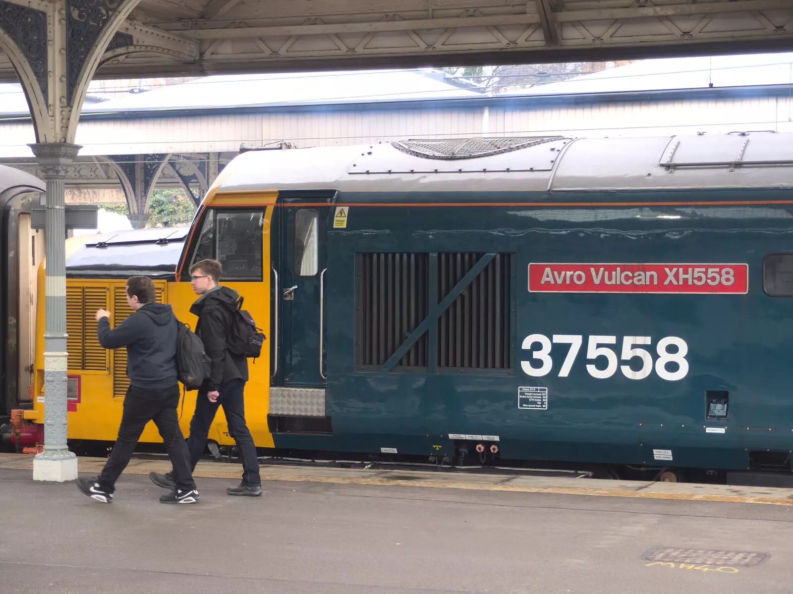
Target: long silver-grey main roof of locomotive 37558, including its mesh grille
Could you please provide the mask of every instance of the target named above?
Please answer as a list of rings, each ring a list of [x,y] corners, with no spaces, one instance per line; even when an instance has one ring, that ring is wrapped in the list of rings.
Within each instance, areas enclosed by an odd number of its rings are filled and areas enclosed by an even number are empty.
[[[407,140],[248,151],[215,188],[352,192],[791,188],[793,133]]]

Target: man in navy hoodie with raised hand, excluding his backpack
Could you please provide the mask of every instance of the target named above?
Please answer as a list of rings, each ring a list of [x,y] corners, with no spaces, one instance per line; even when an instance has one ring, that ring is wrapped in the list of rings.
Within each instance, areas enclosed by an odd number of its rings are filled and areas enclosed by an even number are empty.
[[[176,414],[179,404],[178,321],[170,305],[156,303],[151,278],[129,278],[126,296],[133,312],[117,328],[110,329],[110,312],[105,309],[96,312],[97,334],[102,347],[127,347],[130,385],[124,399],[118,439],[102,473],[94,479],[79,478],[78,489],[92,499],[109,504],[116,481],[132,458],[140,434],[146,423],[153,420],[174,465],[172,491],[159,500],[163,504],[196,504],[198,491],[190,469],[190,452]]]

